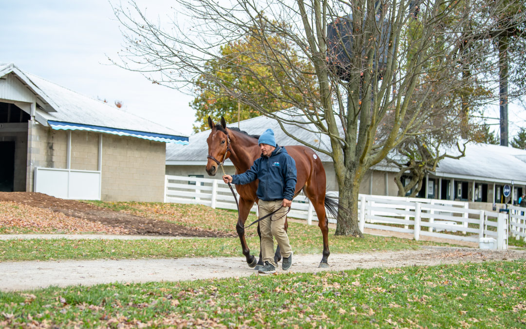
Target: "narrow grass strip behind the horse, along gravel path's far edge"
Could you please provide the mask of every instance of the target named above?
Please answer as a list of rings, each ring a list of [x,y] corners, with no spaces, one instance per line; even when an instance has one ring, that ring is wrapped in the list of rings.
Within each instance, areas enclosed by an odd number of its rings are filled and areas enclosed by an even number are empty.
[[[254,229],[255,230],[255,229]],[[321,233],[317,226],[290,223],[290,243],[297,254],[320,254]],[[251,253],[259,254],[259,238],[247,237]],[[431,242],[365,235],[329,237],[332,253],[356,253],[414,249]],[[0,241],[0,261],[93,260],[98,258],[244,257],[239,238],[188,238],[180,240],[31,239]],[[329,258],[330,259],[330,258]]]

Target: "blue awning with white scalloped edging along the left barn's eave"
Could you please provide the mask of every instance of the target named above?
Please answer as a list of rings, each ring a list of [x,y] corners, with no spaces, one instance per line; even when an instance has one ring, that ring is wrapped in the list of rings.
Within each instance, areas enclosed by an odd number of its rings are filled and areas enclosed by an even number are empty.
[[[90,132],[106,133],[118,136],[132,136],[137,138],[148,139],[150,141],[164,142],[164,143],[177,143],[177,144],[188,144],[188,137],[176,136],[176,135],[165,135],[148,132],[140,132],[127,129],[118,129],[110,127],[84,125],[70,122],[59,122],[48,120],[47,123],[55,130],[84,130]]]

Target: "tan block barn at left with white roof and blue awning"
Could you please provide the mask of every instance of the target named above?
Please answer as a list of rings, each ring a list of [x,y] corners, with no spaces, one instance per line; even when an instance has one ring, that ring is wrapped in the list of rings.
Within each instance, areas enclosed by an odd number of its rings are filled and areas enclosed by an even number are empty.
[[[188,136],[0,64],[0,191],[163,201],[167,143]]]

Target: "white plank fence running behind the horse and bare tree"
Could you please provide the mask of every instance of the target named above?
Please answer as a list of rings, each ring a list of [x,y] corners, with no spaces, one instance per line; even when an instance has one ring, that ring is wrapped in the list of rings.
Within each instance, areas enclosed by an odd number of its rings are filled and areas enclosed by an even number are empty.
[[[165,187],[165,202],[236,209],[234,196],[222,180],[166,176]],[[337,196],[335,192],[330,193]],[[372,228],[410,233],[415,240],[425,235],[476,242],[484,248],[508,247],[507,214],[472,210],[467,202],[360,194],[358,207],[362,232],[364,228]],[[257,212],[257,206],[251,211]],[[292,202],[288,216],[305,219],[309,225],[318,220],[310,202],[302,195]],[[512,226],[512,230],[522,230],[518,233],[520,236],[525,235],[524,218],[522,215]],[[329,217],[329,222],[336,223],[336,219]]]

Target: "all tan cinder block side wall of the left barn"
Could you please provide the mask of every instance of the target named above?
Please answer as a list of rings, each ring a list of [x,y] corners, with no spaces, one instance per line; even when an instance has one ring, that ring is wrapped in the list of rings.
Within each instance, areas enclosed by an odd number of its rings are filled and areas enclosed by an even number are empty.
[[[100,134],[71,133],[71,168],[98,170]],[[66,168],[67,134],[68,131],[29,124],[26,191],[33,191],[35,167]],[[103,134],[101,199],[162,202],[165,161],[165,143]]]

